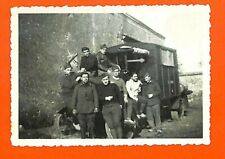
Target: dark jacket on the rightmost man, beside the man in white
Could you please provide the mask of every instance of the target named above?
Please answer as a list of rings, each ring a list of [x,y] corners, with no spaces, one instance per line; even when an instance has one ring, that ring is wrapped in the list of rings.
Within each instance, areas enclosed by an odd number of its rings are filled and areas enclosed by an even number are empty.
[[[160,104],[160,87],[155,81],[149,83],[144,82],[141,87],[141,94],[146,99],[147,105],[152,106]],[[152,98],[148,98],[148,94],[153,94]]]

